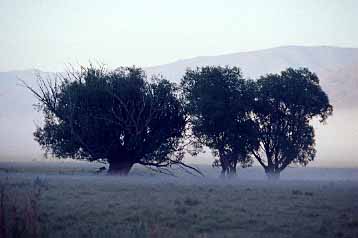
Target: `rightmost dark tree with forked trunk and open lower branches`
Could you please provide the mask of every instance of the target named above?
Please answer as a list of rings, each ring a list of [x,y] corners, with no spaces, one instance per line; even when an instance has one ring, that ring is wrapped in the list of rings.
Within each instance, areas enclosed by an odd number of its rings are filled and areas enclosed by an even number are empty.
[[[333,112],[316,74],[306,68],[288,68],[256,82],[252,120],[260,147],[252,154],[269,178],[278,178],[290,164],[314,160],[315,134],[310,122],[325,122]]]

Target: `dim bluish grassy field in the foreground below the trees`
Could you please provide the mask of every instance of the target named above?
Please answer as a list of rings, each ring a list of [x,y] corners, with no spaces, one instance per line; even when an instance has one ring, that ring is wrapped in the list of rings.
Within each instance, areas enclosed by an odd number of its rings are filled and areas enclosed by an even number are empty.
[[[74,166],[27,168],[0,171],[0,232],[7,236],[358,237],[355,180],[269,183],[141,170],[123,178]]]

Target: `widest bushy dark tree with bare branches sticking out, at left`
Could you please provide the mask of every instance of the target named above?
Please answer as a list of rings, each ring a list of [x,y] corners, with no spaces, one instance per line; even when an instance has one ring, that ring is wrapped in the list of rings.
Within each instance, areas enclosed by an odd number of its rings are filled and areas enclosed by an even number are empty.
[[[134,164],[192,168],[182,162],[186,114],[177,87],[163,78],[148,82],[139,68],[91,66],[40,78],[39,90],[26,86],[44,113],[34,135],[47,153],[105,161],[121,175]]]

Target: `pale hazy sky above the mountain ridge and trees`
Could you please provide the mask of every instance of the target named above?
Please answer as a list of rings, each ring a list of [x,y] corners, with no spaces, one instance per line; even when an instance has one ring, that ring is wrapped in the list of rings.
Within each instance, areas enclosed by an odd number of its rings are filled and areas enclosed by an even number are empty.
[[[356,0],[0,0],[0,71],[149,66],[281,45],[358,47]]]

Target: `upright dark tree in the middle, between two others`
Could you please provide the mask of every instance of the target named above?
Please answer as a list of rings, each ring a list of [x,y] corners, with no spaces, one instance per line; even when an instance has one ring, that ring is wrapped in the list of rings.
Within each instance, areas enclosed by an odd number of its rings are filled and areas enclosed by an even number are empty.
[[[237,67],[187,70],[181,85],[193,135],[215,156],[222,175],[236,174],[236,165],[250,166],[249,151],[256,149],[250,120],[250,95]]]

